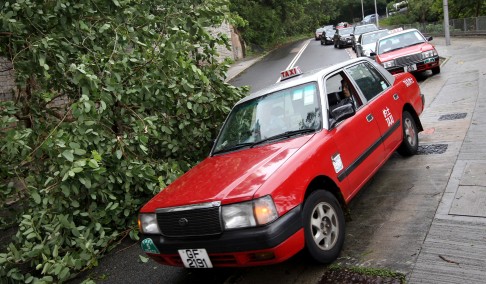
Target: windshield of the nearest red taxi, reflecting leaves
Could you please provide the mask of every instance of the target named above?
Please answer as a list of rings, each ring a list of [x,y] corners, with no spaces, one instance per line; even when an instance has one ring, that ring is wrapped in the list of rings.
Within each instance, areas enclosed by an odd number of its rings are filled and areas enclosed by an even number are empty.
[[[321,120],[316,82],[270,93],[233,108],[213,153],[252,147],[272,137],[306,134],[320,129]]]

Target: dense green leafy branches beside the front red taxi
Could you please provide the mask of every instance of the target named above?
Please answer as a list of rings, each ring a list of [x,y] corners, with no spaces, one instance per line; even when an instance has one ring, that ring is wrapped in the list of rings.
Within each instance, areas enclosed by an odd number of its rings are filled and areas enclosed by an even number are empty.
[[[64,282],[137,238],[140,206],[208,153],[243,95],[217,60],[228,39],[206,29],[228,15],[226,0],[0,4],[17,86],[0,102],[0,210],[19,210],[1,279]]]

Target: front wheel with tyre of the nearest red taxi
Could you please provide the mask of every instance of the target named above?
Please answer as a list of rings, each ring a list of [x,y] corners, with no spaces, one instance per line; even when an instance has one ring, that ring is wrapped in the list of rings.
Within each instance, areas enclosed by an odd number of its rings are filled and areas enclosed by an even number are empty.
[[[304,203],[304,235],[307,250],[320,263],[334,261],[344,243],[344,213],[329,191],[313,192]]]

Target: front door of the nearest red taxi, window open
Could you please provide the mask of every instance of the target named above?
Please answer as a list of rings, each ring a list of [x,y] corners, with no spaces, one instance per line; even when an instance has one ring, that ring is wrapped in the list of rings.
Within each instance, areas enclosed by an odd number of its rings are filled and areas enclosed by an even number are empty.
[[[325,80],[328,95],[328,109],[332,108],[332,96],[341,93],[342,80],[349,80],[344,72],[334,74]],[[339,83],[338,83],[339,82]],[[344,198],[348,199],[366,183],[384,159],[380,130],[372,109],[364,105],[354,85],[350,86],[356,105],[356,113],[330,129],[337,152],[332,154],[332,162]],[[332,120],[332,117],[330,117]]]

